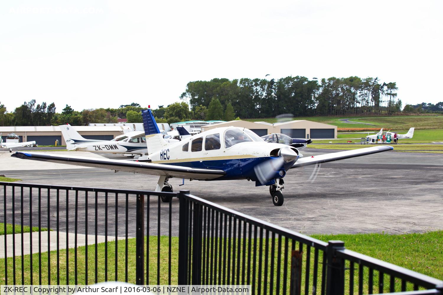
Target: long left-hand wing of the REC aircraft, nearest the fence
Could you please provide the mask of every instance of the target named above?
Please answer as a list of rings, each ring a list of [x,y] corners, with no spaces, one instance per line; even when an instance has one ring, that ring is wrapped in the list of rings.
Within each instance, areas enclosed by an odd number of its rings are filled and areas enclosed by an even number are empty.
[[[154,164],[127,160],[71,157],[54,155],[50,153],[16,152],[13,153],[11,157],[195,180],[210,180],[225,175],[223,170],[218,169],[198,169],[176,165]]]

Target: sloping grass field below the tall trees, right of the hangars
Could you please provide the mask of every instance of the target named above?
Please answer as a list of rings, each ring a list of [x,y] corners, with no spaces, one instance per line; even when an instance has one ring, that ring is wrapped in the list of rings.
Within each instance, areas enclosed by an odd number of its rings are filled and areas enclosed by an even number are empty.
[[[385,128],[387,130],[408,130],[411,127],[415,127],[416,130],[423,129],[443,129],[443,116],[439,115],[435,117],[433,115],[427,116],[373,116],[373,117],[355,117],[353,115],[348,116],[312,116],[312,117],[295,117],[294,120],[309,120],[314,122],[320,122],[325,124],[335,125],[338,128]],[[361,123],[371,123],[374,125],[366,124],[350,124],[343,123],[340,119],[350,119],[351,121]],[[276,123],[275,118],[265,119],[245,119],[245,121],[256,122],[264,121],[268,123]]]

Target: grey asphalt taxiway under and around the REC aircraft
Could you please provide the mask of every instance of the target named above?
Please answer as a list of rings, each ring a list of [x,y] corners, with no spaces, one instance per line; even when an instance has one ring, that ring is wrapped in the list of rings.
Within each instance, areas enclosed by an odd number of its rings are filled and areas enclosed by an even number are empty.
[[[301,152],[315,156],[331,151]],[[50,153],[126,158],[105,153]],[[26,183],[153,190],[158,180],[155,176],[73,168],[10,155],[0,153],[0,174]],[[401,234],[443,229],[441,154],[377,153],[326,163],[320,169],[292,169],[284,181],[282,207],[272,204],[268,187],[256,187],[247,180],[185,180],[185,185],[179,187],[182,180],[171,179],[170,184],[175,191],[187,189],[211,202],[305,234]],[[178,211],[177,199],[172,201],[172,207]],[[135,220],[129,222],[129,227],[134,228]]]

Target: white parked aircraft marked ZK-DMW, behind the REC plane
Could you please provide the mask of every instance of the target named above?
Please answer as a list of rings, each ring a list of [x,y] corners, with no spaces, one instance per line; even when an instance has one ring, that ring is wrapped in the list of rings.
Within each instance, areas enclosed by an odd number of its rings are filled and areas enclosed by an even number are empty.
[[[60,125],[66,149],[85,152],[123,153],[126,155],[144,155],[148,153],[144,131],[129,131],[113,140],[97,140],[83,138],[69,124]],[[179,142],[175,139],[165,139],[167,142]]]

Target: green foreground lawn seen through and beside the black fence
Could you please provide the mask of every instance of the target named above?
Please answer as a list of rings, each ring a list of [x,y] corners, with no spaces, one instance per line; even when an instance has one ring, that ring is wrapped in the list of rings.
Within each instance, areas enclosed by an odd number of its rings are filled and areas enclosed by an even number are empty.
[[[383,261],[387,261],[393,264],[400,265],[405,268],[412,269],[416,272],[420,272],[426,274],[428,276],[433,276],[436,278],[443,277],[443,231],[434,231],[427,232],[425,234],[401,234],[401,235],[389,235],[389,234],[339,234],[339,235],[312,235],[313,238],[317,238],[323,241],[328,240],[342,240],[345,242],[346,248],[357,251],[359,253],[363,253],[369,255],[371,257],[375,257],[377,259],[381,259]],[[237,240],[238,241],[238,240]],[[277,255],[284,253],[284,239],[282,241],[282,250],[279,251],[277,246],[278,239],[276,238],[276,244],[273,247],[270,245],[269,247],[269,255],[271,255],[271,251],[274,251],[275,254],[275,264],[277,261]],[[223,241],[222,241],[223,242]],[[269,240],[271,243],[271,240]],[[117,251],[117,279],[124,280],[124,241],[118,241],[118,251]],[[237,244],[237,243],[236,243]],[[243,242],[241,242],[242,247]],[[146,243],[145,243],[146,245]],[[172,284],[177,283],[177,265],[178,265],[178,238],[173,237],[171,243],[172,249],[172,258],[171,258],[171,276],[172,276]],[[236,245],[237,246],[237,245]],[[252,241],[252,249],[254,249],[254,242]],[[289,247],[291,246],[291,242],[289,243]],[[114,280],[115,278],[115,256],[114,256],[114,241],[108,243],[108,279]],[[246,241],[246,247],[248,247],[248,240]],[[257,242],[258,247],[258,242]],[[149,241],[150,255],[149,255],[149,278],[151,284],[156,284],[156,274],[157,274],[157,238],[151,236]],[[167,284],[167,273],[169,269],[168,265],[168,238],[165,236],[160,237],[160,284]],[[298,249],[298,245],[296,247]],[[264,243],[263,243],[264,250]],[[306,245],[304,246],[304,251],[306,251]],[[241,253],[243,249],[241,249]],[[264,251],[263,251],[264,252]],[[94,253],[95,253],[95,245],[88,246],[88,283],[92,284],[94,280],[95,268],[94,268]],[[98,281],[105,280],[105,245],[104,243],[97,245],[97,257],[98,257]],[[257,249],[258,253],[258,249]],[[282,256],[282,263],[283,256]],[[51,251],[51,282],[54,283],[56,281],[56,252]],[[128,240],[128,280],[131,283],[135,283],[135,239]],[[248,255],[246,255],[248,257]],[[253,255],[251,255],[253,257]],[[30,255],[26,255],[24,259],[25,269],[30,268],[29,259]],[[231,258],[232,259],[232,258]],[[258,265],[258,255],[256,263]],[[38,278],[39,266],[38,266],[38,254],[34,254],[33,256],[33,276],[34,280]],[[251,258],[252,261],[252,258]],[[319,259],[321,261],[321,259]],[[311,249],[311,261],[310,261],[310,285],[312,286],[312,273],[313,273],[313,263],[314,262],[314,251]],[[264,263],[264,261],[263,261]],[[0,265],[4,265],[4,260],[0,259]],[[74,249],[69,250],[69,265],[70,265],[70,274],[69,274],[69,283],[74,284]],[[303,254],[303,268],[306,265],[306,255]],[[319,276],[318,280],[321,278],[321,266],[319,264]],[[349,266],[347,264],[346,266]],[[226,267],[227,264],[223,264],[222,268]],[[240,264],[241,267],[241,264]],[[268,262],[268,275],[270,274],[271,265]],[[16,260],[16,269],[21,269],[21,259]],[[43,284],[47,284],[47,253],[42,255],[42,269],[44,271]],[[60,251],[60,280],[63,284],[66,282],[66,250]],[[264,269],[262,270],[264,272]],[[242,272],[240,271],[240,274]],[[367,292],[368,281],[367,274],[368,270],[364,270],[365,273],[365,290]],[[375,273],[374,278],[374,290],[378,290],[375,286],[378,284],[378,273]],[[274,271],[276,274],[276,271]],[[85,284],[85,247],[78,248],[78,282],[79,284]],[[12,259],[8,259],[8,281],[12,280]],[[289,274],[288,274],[289,276]],[[21,284],[20,280],[21,274],[17,272],[17,280]],[[242,277],[242,276],[241,276]],[[262,276],[263,277],[263,276]],[[349,272],[346,272],[346,277],[349,278]],[[4,281],[4,269],[0,269],[0,278],[3,278]],[[252,272],[251,272],[252,278]],[[280,274],[280,282],[283,282],[283,272]],[[305,280],[305,275],[302,276],[303,281]],[[358,287],[358,268],[355,272],[355,287],[357,291]],[[348,279],[349,280],[349,279]],[[240,280],[241,281],[241,280]],[[399,290],[400,283],[398,279],[396,284],[396,290]],[[275,284],[276,280],[274,280]],[[385,282],[389,282],[389,278],[385,276]],[[30,283],[29,272],[25,273],[25,284]],[[263,286],[263,283],[262,283]],[[320,287],[320,284],[318,284]],[[385,284],[385,291],[388,291],[389,284]],[[408,284],[408,289],[412,289],[412,285]],[[275,290],[275,288],[274,288]]]

